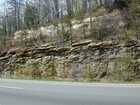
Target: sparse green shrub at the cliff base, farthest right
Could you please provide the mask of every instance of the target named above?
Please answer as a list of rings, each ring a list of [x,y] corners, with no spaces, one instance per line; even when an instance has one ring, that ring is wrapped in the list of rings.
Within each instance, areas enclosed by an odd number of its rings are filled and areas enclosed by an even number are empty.
[[[127,57],[119,57],[114,59],[114,71],[111,72],[114,80],[119,82],[133,80],[135,76],[134,71],[131,69],[133,67],[133,58],[134,57],[132,55],[129,55]]]

